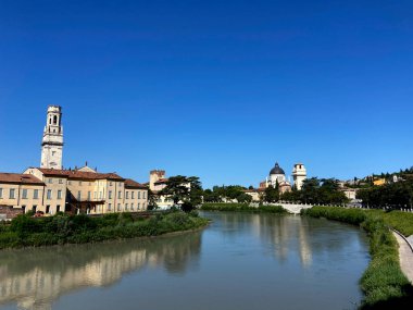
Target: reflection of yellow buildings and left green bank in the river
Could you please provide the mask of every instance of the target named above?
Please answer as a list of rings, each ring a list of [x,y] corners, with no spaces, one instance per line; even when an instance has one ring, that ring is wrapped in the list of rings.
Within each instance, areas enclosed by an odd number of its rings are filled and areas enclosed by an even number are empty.
[[[155,239],[0,252],[0,305],[48,309],[60,295],[108,286],[147,264],[185,273],[200,256],[201,232]]]

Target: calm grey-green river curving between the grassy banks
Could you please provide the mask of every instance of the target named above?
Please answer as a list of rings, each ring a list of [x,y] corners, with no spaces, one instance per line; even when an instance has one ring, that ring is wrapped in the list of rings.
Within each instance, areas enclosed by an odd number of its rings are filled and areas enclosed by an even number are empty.
[[[0,251],[0,309],[355,309],[359,228],[273,214],[202,213],[196,233]]]

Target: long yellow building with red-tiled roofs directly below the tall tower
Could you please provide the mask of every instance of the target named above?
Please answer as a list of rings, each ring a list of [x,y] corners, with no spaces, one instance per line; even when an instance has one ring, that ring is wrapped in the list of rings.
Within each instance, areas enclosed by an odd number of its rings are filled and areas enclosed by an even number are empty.
[[[148,208],[148,188],[115,173],[98,173],[84,166],[78,170],[29,168],[25,174],[36,176],[46,185],[45,202],[38,209],[45,213],[104,214]]]

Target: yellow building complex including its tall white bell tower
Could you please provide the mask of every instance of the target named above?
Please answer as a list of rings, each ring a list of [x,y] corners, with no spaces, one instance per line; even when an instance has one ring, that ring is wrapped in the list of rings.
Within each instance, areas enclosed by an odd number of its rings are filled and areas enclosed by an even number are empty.
[[[24,174],[0,173],[0,206],[54,214],[59,211],[109,213],[147,209],[147,187],[116,173],[87,165],[63,170],[61,107],[48,108],[40,168]]]

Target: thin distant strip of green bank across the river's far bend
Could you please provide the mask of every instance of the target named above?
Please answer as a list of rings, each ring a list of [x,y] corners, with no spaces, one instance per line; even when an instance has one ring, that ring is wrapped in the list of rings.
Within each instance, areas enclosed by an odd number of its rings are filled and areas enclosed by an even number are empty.
[[[204,211],[231,211],[231,212],[251,212],[251,213],[274,213],[287,214],[280,206],[260,206],[258,208],[249,207],[248,203],[203,203],[201,210]]]

